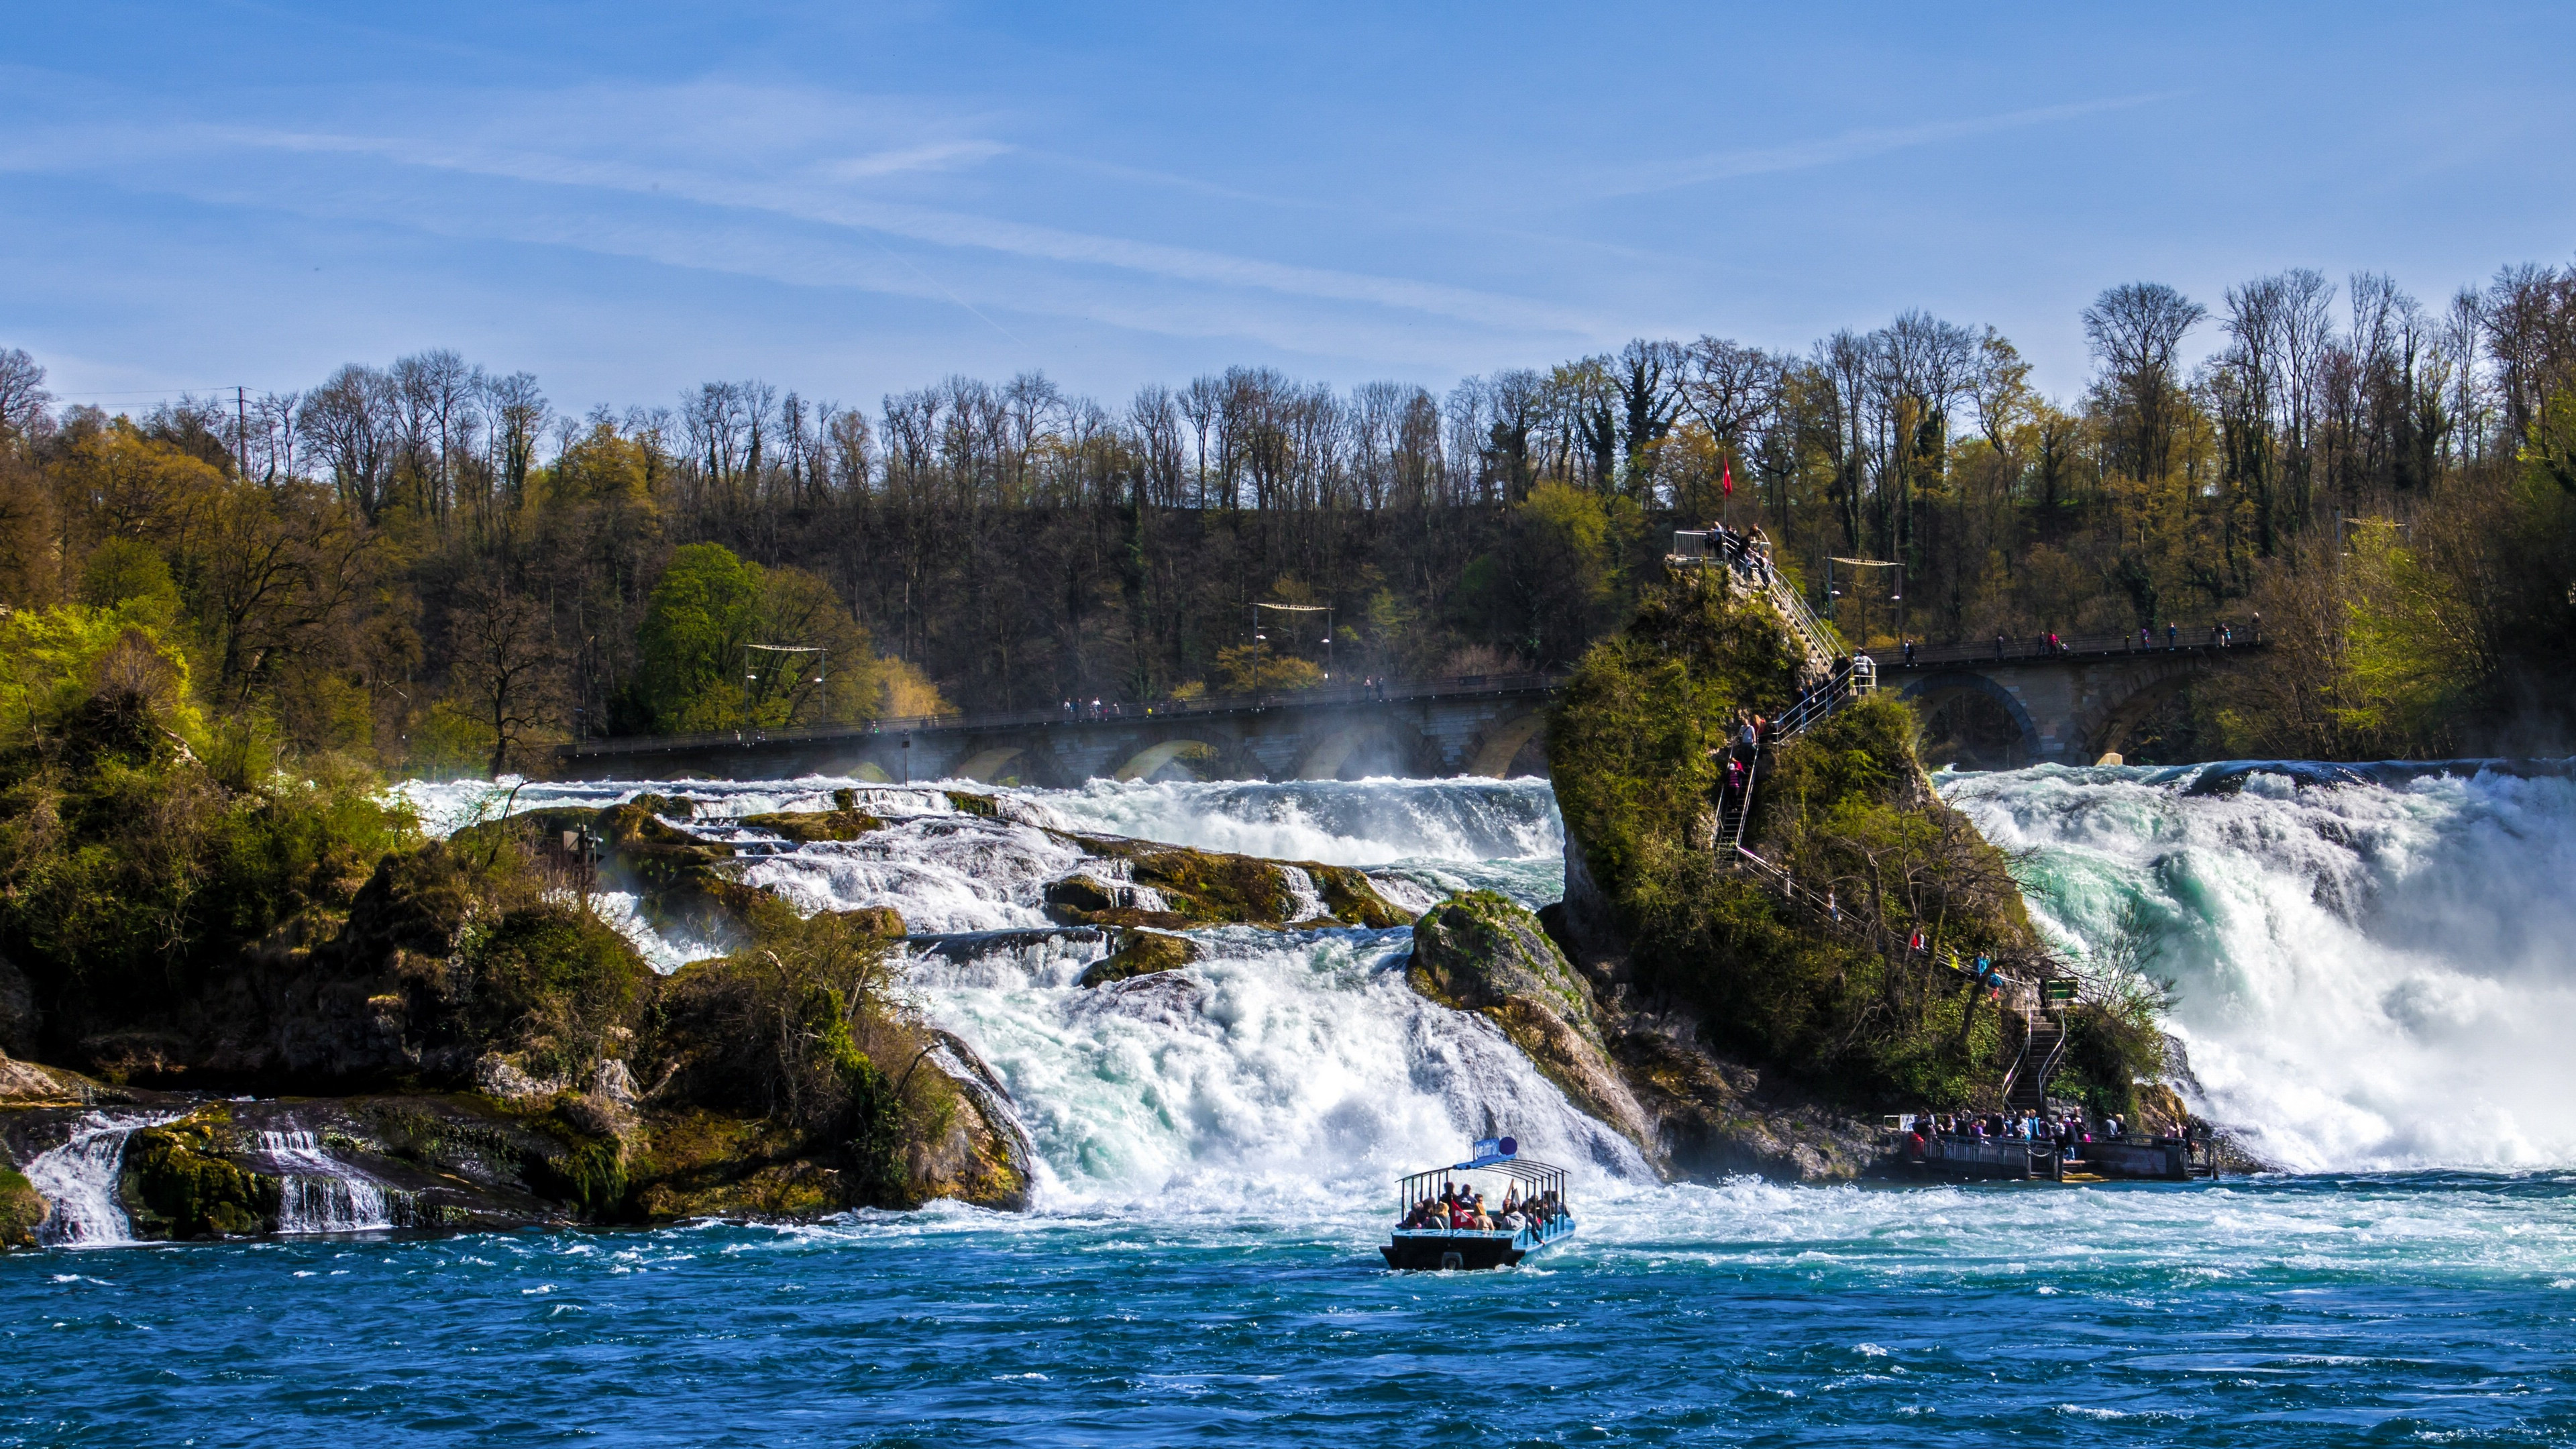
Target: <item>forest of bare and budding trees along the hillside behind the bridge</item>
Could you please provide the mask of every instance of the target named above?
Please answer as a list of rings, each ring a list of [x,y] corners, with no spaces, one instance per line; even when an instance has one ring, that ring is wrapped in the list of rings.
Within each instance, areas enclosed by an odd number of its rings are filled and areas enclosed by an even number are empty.
[[[31,730],[121,629],[229,737],[404,773],[1569,668],[1672,529],[1728,518],[1855,645],[2262,614],[2267,668],[2133,758],[2566,750],[2576,266],[2442,304],[2372,273],[2123,284],[2071,322],[2074,397],[1927,312],[1803,353],[1633,340],[1448,394],[1231,369],[1115,407],[1030,371],[564,413],[422,351],[108,415],[0,351],[0,714]],[[1255,603],[1332,614],[1262,655]]]

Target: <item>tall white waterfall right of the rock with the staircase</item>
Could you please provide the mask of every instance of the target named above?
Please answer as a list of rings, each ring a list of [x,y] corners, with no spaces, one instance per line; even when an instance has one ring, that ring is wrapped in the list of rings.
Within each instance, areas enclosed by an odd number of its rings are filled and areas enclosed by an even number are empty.
[[[2576,1160],[2563,773],[2040,766],[1942,792],[2030,851],[2045,931],[2177,982],[2205,1111],[2272,1160]]]

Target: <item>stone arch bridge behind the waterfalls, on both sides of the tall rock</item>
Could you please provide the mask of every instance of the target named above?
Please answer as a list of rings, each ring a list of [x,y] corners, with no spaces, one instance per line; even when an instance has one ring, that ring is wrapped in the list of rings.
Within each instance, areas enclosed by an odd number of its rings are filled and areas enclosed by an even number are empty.
[[[1984,724],[1984,748],[1955,753],[1986,768],[2092,763],[2120,750],[2174,688],[2249,657],[2257,645],[2154,647],[2071,639],[2063,652],[2027,645],[1919,650],[1880,665],[1927,717]],[[564,745],[564,779],[781,779],[801,773],[886,781],[971,779],[1072,786],[1087,779],[1365,779],[1546,773],[1546,712],[1561,676],[1489,676],[1388,683],[1118,714],[1018,712],[894,719],[876,727],[662,735]]]

